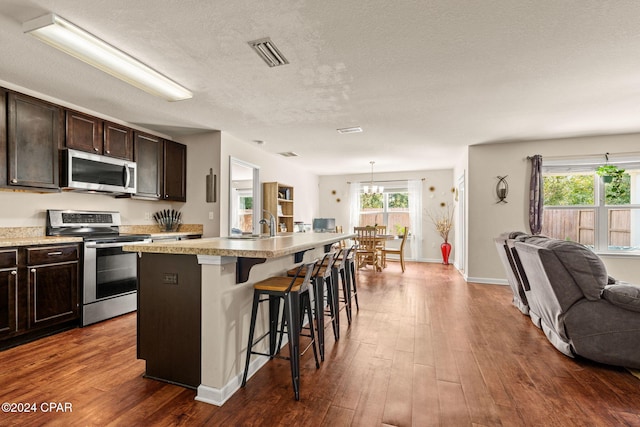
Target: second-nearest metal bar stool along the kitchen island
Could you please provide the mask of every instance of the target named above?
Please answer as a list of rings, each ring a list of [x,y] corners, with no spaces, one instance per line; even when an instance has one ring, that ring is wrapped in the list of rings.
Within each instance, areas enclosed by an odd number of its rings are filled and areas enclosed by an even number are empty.
[[[331,323],[333,327],[333,336],[336,341],[340,339],[340,319],[337,316],[336,308],[338,307],[338,288],[337,282],[333,278],[333,266],[337,260],[339,253],[340,251],[336,251],[335,248],[332,248],[331,251],[325,253],[322,261],[316,265],[315,271],[311,278],[316,318],[316,333],[318,337],[318,349],[320,352],[320,360],[322,361],[324,361],[325,354],[325,328],[328,327],[328,323]],[[296,269],[291,269],[287,272],[287,275],[290,277],[293,277],[296,274]],[[327,295],[326,300],[325,286]],[[325,322],[325,314],[329,316],[328,323]]]

